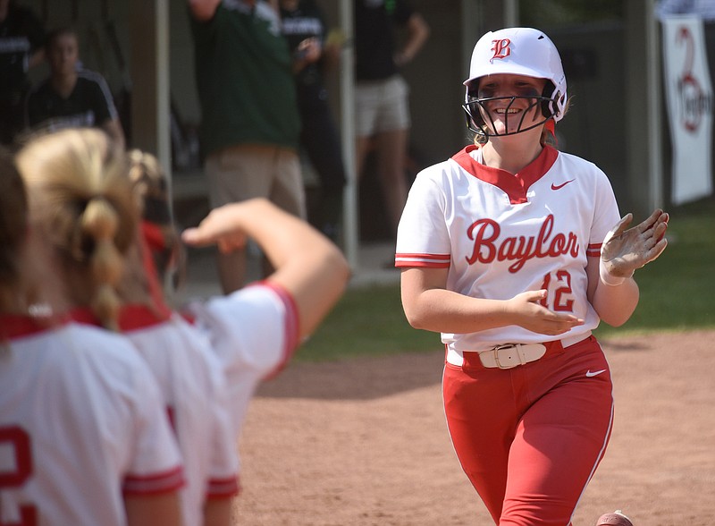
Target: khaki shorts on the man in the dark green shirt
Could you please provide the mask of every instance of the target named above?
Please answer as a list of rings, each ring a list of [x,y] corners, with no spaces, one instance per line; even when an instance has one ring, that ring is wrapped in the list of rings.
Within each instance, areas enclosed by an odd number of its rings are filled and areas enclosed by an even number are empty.
[[[211,208],[263,197],[306,218],[306,195],[298,154],[290,148],[231,146],[206,157]]]

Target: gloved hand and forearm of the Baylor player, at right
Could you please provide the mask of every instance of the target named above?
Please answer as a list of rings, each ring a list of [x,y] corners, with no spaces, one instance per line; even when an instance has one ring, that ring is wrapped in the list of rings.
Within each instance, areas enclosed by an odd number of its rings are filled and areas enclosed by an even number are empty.
[[[658,208],[643,223],[627,229],[633,221],[633,214],[627,214],[603,240],[601,258],[586,267],[589,301],[610,326],[623,325],[633,314],[639,299],[633,273],[668,246],[668,220],[668,214]]]

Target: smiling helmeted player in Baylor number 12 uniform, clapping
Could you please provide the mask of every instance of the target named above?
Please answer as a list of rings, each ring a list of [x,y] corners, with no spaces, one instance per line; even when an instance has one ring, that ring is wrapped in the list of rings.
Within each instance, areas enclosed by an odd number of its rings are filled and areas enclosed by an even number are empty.
[[[612,425],[591,331],[635,310],[633,271],[665,249],[668,215],[627,230],[606,175],[550,146],[568,98],[542,31],[484,35],[464,84],[475,144],[410,190],[402,304],[442,334],[450,437],[494,522],[570,524]]]

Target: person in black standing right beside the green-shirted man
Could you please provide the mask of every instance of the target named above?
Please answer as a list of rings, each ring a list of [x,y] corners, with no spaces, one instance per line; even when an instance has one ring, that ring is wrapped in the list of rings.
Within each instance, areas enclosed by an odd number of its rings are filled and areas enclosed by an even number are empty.
[[[341,38],[328,36],[315,0],[281,0],[283,35],[293,55],[301,130],[300,146],[320,179],[313,223],[337,242],[342,216],[345,166],[338,127],[332,118],[324,72],[340,60]]]

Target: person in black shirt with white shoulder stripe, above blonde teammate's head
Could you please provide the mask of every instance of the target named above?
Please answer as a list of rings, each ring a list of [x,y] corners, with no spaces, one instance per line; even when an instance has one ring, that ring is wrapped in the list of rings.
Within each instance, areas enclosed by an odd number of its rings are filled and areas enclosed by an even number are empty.
[[[69,28],[47,37],[49,78],[33,89],[27,103],[32,131],[92,126],[101,128],[124,148],[124,131],[114,98],[105,79],[97,72],[80,69],[80,43]]]

